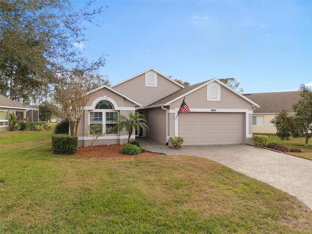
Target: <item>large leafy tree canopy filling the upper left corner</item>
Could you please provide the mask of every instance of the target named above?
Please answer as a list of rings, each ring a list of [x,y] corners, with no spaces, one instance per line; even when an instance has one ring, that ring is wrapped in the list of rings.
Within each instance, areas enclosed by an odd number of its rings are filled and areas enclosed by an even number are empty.
[[[74,46],[86,41],[83,22],[94,23],[94,16],[103,11],[90,6],[88,2],[74,10],[69,0],[2,0],[0,93],[27,101],[33,93],[40,95],[49,85],[58,85],[73,64],[88,72],[104,66],[104,55],[88,62]]]

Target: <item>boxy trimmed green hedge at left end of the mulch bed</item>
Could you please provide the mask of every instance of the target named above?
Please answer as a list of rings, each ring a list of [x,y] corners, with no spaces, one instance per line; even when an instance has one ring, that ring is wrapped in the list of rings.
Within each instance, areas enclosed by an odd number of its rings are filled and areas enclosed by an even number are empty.
[[[53,154],[75,154],[78,150],[78,137],[67,134],[52,135]]]

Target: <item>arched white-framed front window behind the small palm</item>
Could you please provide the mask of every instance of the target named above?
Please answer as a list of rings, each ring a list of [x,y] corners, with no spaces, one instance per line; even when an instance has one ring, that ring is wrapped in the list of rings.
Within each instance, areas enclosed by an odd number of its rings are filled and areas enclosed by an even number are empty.
[[[113,106],[107,101],[100,101],[95,105],[95,110],[90,112],[90,125],[102,124],[102,131],[106,134],[118,134],[114,129],[117,125],[118,112],[113,110]]]

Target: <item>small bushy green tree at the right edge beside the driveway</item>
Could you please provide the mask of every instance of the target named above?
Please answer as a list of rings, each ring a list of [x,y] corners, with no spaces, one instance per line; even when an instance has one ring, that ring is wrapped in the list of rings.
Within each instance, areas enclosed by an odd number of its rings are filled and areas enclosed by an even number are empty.
[[[276,127],[276,135],[281,140],[292,137],[305,137],[305,146],[308,146],[312,137],[312,91],[305,85],[300,86],[301,98],[293,105],[295,115],[290,115],[283,109],[271,123]]]

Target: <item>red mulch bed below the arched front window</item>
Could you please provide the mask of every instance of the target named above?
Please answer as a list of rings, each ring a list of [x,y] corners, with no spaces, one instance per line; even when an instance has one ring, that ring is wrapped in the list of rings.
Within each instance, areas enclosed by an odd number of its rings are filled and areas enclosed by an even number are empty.
[[[75,154],[69,156],[74,157],[98,157],[98,158],[144,158],[144,157],[156,157],[160,154],[154,154],[144,152],[139,155],[125,155],[121,154],[120,150],[124,145],[96,145],[91,147],[80,147]]]

